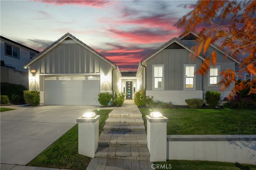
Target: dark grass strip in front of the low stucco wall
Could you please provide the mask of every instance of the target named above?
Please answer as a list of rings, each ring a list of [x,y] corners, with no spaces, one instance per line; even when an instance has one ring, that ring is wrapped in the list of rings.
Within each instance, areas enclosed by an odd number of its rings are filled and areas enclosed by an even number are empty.
[[[167,160],[167,162],[154,162],[154,164],[162,164],[162,167],[167,167],[158,168],[158,170],[168,169],[169,164],[171,164],[172,170],[256,170],[256,165],[198,160]]]

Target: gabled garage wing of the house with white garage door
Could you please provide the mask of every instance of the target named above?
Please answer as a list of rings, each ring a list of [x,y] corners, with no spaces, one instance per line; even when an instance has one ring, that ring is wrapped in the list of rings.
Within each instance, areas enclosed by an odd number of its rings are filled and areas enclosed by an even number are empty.
[[[100,105],[99,93],[120,89],[118,66],[70,33],[24,68],[29,90],[40,91],[40,105]]]

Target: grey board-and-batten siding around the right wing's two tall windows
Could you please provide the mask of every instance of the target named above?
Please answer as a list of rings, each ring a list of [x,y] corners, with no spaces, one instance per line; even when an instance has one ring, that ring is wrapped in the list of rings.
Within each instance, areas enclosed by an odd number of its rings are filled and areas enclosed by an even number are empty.
[[[202,60],[194,61],[186,49],[164,49],[147,61],[147,90],[152,90],[153,67],[164,65],[164,90],[184,90],[184,64],[196,64],[196,69]],[[202,90],[201,75],[196,74],[196,90]]]

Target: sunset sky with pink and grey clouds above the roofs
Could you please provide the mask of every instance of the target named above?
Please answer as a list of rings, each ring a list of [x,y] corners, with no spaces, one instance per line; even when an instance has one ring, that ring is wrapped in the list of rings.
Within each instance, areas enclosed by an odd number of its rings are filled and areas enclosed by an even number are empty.
[[[196,2],[0,0],[0,34],[42,51],[69,32],[121,71],[136,71],[142,58],[184,32],[174,24]]]

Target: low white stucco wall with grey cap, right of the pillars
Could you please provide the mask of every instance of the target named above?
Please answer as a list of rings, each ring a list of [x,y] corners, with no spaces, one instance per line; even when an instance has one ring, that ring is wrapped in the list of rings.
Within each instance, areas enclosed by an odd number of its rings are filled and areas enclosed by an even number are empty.
[[[167,135],[167,159],[256,164],[256,135]]]

